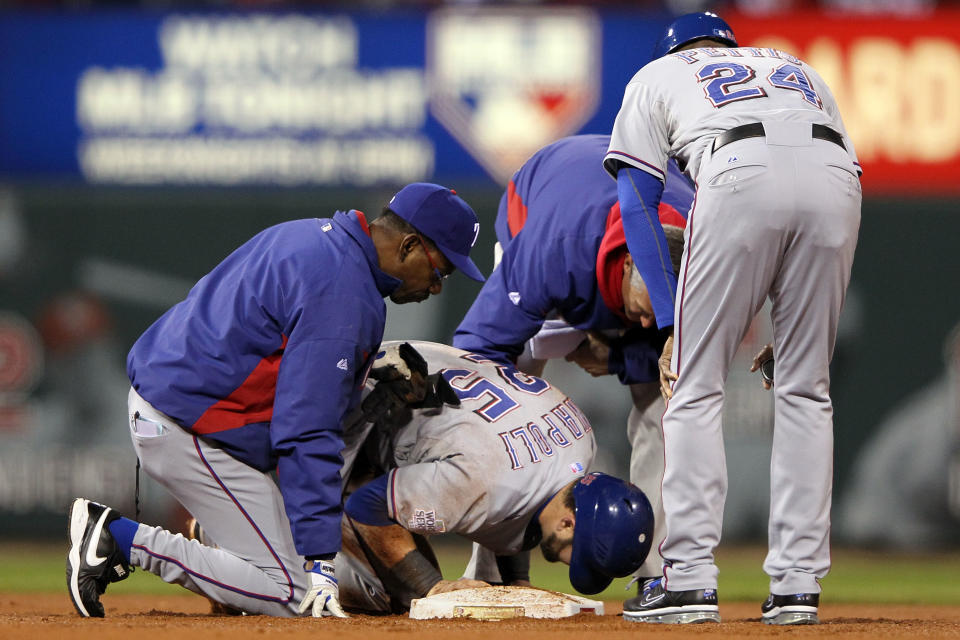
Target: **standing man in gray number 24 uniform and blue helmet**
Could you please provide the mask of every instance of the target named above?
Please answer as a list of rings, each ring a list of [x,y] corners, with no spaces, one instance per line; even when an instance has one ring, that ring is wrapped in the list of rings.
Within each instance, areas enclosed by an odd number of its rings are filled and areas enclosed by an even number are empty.
[[[816,623],[818,579],[830,567],[828,367],[860,224],[853,145],[816,71],[783,51],[738,47],[726,22],[699,13],[670,25],[627,85],[614,124],[604,164],[617,178],[631,252],[658,224],[670,157],[698,188],[661,359],[672,395],[663,418],[664,579],[624,616],[720,620],[713,550],[727,487],[723,386],[769,296],[777,372],[762,614],[768,623]],[[664,282],[656,271],[641,275],[651,288]]]

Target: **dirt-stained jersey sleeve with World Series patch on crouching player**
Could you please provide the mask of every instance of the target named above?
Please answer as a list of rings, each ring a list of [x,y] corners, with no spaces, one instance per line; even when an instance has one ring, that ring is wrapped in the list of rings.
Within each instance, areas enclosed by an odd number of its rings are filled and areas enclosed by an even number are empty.
[[[487,520],[485,475],[466,455],[400,467],[389,476],[388,514],[409,531],[468,535]]]

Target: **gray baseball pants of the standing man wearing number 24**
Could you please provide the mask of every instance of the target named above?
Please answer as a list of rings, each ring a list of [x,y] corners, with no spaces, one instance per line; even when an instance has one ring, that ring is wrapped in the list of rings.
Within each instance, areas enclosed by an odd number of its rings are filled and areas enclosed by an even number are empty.
[[[674,319],[679,375],[663,418],[661,547],[667,588],[715,588],[727,469],[723,387],[754,315],[772,302],[775,420],[769,553],[774,594],[819,593],[830,567],[833,354],[860,224],[848,154],[809,125],[764,123],[767,138],[706,159]],[[774,135],[770,135],[773,133]],[[774,141],[776,144],[774,144]]]

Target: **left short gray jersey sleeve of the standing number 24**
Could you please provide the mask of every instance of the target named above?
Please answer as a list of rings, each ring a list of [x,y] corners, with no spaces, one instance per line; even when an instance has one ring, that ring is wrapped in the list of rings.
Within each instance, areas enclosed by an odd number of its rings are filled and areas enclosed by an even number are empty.
[[[613,178],[617,177],[620,167],[627,165],[664,181],[670,144],[663,121],[663,103],[650,86],[638,79],[642,73],[641,70],[624,92],[603,166]]]

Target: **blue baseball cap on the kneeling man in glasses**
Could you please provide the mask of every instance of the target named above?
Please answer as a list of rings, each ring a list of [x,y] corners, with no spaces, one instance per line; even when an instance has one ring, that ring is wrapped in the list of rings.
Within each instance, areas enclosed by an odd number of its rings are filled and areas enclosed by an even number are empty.
[[[480,223],[477,214],[456,191],[429,182],[414,182],[398,191],[387,206],[430,238],[447,260],[468,278],[484,281],[480,269],[470,259]]]

